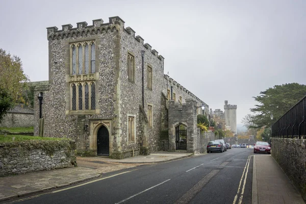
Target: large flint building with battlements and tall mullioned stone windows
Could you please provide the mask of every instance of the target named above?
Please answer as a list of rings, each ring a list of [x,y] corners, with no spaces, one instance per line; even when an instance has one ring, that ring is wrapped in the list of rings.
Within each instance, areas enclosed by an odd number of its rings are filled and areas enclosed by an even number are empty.
[[[181,103],[193,99],[208,111],[203,101],[164,75],[164,58],[132,28],[124,28],[118,16],[108,23],[78,22],[77,28],[49,27],[47,39],[48,86],[35,89],[43,95],[46,137],[72,138],[78,150],[115,159],[148,155],[160,149],[170,97]],[[38,100],[34,106],[38,124]]]

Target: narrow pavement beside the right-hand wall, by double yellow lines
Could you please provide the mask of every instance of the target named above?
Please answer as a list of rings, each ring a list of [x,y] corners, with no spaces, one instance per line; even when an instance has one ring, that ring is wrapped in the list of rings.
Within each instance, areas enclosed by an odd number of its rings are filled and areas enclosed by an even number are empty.
[[[305,204],[301,194],[271,155],[254,155],[252,204]]]

